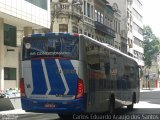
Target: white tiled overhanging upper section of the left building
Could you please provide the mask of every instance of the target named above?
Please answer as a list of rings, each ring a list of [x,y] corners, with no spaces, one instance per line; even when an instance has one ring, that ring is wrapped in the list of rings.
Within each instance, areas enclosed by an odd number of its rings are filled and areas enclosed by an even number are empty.
[[[48,0],[48,2],[50,2]],[[48,10],[39,8],[25,0],[0,0],[0,13],[3,15],[11,15],[22,20],[29,21],[33,24],[49,28],[50,27],[50,4],[48,4]],[[0,14],[0,15],[1,15]],[[5,16],[5,15],[3,15]],[[4,17],[5,18],[5,17]],[[7,20],[7,18],[5,18]],[[21,26],[23,22],[16,23],[14,20],[7,20],[12,24]],[[7,22],[6,21],[6,22]],[[25,24],[25,23],[23,23]],[[27,25],[27,24],[26,24]],[[23,26],[23,25],[22,25]]]

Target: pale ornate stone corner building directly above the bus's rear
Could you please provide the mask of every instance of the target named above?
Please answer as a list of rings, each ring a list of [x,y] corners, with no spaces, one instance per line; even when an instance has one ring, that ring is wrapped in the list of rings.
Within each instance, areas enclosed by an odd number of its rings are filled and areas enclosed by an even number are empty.
[[[95,36],[92,0],[51,0],[52,32]]]

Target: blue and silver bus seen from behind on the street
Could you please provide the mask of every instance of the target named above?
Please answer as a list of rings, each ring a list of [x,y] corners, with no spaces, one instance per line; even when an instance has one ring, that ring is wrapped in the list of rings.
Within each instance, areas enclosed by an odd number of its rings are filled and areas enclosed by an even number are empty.
[[[82,34],[23,38],[22,109],[30,112],[104,112],[139,102],[139,67],[130,56]]]

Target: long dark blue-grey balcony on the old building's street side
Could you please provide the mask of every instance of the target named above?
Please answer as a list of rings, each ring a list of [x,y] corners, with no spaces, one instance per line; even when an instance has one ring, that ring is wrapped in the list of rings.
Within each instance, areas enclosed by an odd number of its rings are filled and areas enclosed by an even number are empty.
[[[101,31],[101,32],[113,37],[113,38],[116,37],[115,31],[112,30],[111,28],[109,28],[109,27],[105,26],[104,24],[97,22],[97,21],[95,21],[94,23],[95,23],[95,27],[97,30],[99,30],[99,31]]]

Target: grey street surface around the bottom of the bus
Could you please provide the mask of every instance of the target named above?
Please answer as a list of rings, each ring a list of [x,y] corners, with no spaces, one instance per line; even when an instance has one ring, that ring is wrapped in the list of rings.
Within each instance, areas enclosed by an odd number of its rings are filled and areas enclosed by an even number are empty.
[[[133,111],[126,108],[118,109],[114,116],[107,113],[76,115],[71,118],[81,119],[106,119],[106,120],[160,120],[160,90],[143,90],[140,102],[135,104]],[[20,100],[12,100],[16,110],[0,112],[2,120],[60,120],[57,114],[26,113],[21,110]],[[112,118],[111,118],[112,117]],[[7,119],[4,119],[7,118]],[[10,118],[10,119],[9,119]]]

